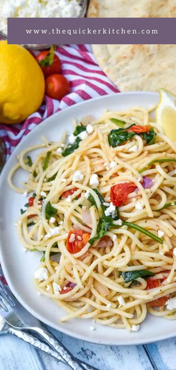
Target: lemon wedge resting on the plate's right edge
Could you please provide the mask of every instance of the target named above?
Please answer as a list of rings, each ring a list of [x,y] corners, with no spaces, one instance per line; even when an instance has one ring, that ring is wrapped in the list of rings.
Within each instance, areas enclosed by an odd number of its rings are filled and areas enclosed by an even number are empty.
[[[156,107],[156,122],[162,126],[165,135],[176,141],[176,95],[160,89],[159,104]]]

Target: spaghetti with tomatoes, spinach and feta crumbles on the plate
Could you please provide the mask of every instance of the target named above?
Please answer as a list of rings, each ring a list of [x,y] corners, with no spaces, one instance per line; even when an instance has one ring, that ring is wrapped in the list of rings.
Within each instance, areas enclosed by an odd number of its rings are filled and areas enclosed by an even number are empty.
[[[42,254],[34,286],[65,310],[62,322],[137,331],[147,311],[176,318],[176,142],[149,113],[75,120],[69,144],[67,132],[43,138],[10,171],[28,198],[19,240]],[[19,168],[23,188],[13,183]]]

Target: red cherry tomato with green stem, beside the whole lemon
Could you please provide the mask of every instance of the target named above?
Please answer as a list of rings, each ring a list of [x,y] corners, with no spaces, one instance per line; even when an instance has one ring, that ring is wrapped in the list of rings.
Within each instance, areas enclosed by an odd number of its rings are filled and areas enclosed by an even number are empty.
[[[50,50],[41,51],[41,53],[35,57],[35,60],[40,65],[45,78],[54,73],[61,73],[61,61],[57,55],[54,54],[53,46],[51,46]]]

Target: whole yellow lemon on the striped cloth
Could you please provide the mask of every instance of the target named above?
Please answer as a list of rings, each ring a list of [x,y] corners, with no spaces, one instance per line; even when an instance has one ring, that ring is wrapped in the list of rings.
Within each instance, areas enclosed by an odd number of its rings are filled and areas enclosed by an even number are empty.
[[[0,123],[20,123],[41,105],[44,75],[20,45],[0,41]]]

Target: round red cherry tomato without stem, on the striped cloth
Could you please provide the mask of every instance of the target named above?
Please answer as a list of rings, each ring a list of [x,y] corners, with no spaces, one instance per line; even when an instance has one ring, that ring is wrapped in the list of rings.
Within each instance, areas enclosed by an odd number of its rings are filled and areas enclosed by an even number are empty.
[[[69,81],[61,74],[52,74],[45,81],[45,93],[52,99],[61,100],[70,91]]]

